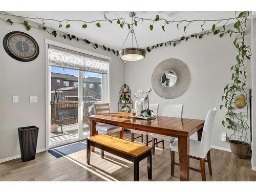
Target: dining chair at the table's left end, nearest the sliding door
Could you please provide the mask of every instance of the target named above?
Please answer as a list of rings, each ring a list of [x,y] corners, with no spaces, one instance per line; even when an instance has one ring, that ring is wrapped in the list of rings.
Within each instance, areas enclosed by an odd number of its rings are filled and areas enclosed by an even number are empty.
[[[94,103],[95,115],[110,114],[110,103]],[[105,123],[98,123],[96,125],[96,135],[106,134],[111,135],[119,132],[119,138],[123,139],[123,128],[120,126],[109,125]],[[104,157],[104,151],[100,150],[101,158]]]

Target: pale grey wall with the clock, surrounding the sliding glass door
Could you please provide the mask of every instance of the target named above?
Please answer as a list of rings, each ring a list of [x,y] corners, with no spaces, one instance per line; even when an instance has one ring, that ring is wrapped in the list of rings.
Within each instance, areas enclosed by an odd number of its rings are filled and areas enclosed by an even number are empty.
[[[6,17],[7,18],[7,17]],[[9,18],[9,17],[8,17]],[[16,20],[17,18],[12,18]],[[23,22],[21,19],[20,22]],[[29,22],[30,25],[38,24]],[[4,23],[0,20],[0,161],[20,154],[17,127],[36,125],[39,127],[37,150],[45,148],[45,38],[111,57],[111,111],[117,111],[119,90],[124,83],[124,65],[112,52],[94,49],[84,41],[68,40],[23,25]],[[4,36],[11,31],[22,31],[31,35],[38,43],[40,53],[31,62],[20,62],[10,57],[2,46]],[[19,102],[12,103],[18,95]],[[37,103],[30,103],[29,96],[37,96]]]

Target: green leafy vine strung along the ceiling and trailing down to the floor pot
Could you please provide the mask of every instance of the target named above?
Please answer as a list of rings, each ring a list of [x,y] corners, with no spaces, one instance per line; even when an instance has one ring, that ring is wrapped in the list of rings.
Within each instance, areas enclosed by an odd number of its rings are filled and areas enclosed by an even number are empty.
[[[116,22],[117,25],[119,25],[121,28],[124,28],[124,26],[127,26],[127,28],[130,30],[131,27],[137,26],[138,23],[141,21],[142,23],[144,21],[152,22],[149,25],[149,29],[151,31],[154,30],[154,23],[155,22],[164,22],[164,25],[161,26],[162,30],[165,32],[165,27],[166,25],[169,24],[176,24],[177,29],[179,30],[181,24],[184,24],[183,29],[184,33],[186,33],[187,27],[194,22],[202,22],[201,24],[201,29],[204,31],[204,25],[207,22],[216,22],[216,24],[212,25],[212,29],[206,32],[202,33],[197,33],[197,34],[192,34],[188,36],[182,36],[179,39],[176,40],[169,40],[166,42],[161,42],[157,45],[149,46],[145,48],[147,52],[151,52],[153,49],[162,47],[163,45],[171,46],[173,45],[174,47],[179,44],[181,41],[185,40],[187,41],[189,38],[198,38],[201,39],[204,35],[209,35],[210,33],[213,33],[214,35],[219,35],[220,37],[223,37],[225,34],[228,34],[230,37],[232,34],[234,34],[235,39],[233,41],[234,46],[238,50],[238,55],[236,56],[237,63],[233,65],[230,69],[231,74],[231,80],[233,81],[232,83],[229,83],[225,86],[224,88],[224,95],[222,96],[222,100],[224,101],[224,104],[220,105],[220,109],[226,108],[227,113],[225,114],[225,120],[222,121],[222,124],[224,126],[227,126],[227,128],[232,129],[234,131],[234,134],[231,136],[238,136],[237,139],[241,140],[242,143],[245,143],[248,141],[247,139],[247,133],[246,130],[249,128],[247,120],[248,120],[248,105],[246,103],[247,107],[247,113],[245,115],[239,115],[234,112],[234,101],[236,100],[236,97],[238,95],[238,92],[241,94],[242,92],[245,93],[247,99],[247,94],[244,91],[244,86],[246,85],[246,70],[245,70],[245,65],[244,62],[246,59],[250,59],[251,56],[251,49],[249,46],[246,46],[244,44],[244,35],[245,35],[245,29],[246,29],[246,22],[248,20],[249,12],[248,11],[243,11],[241,12],[238,16],[233,18],[225,18],[225,19],[196,19],[196,20],[167,20],[164,18],[160,18],[159,15],[156,15],[154,19],[149,19],[149,18],[142,18],[142,17],[134,17],[133,23],[127,23],[125,22],[125,19],[123,18],[114,18],[114,19],[108,19],[104,15],[104,19],[97,19],[97,20],[92,20],[92,21],[84,21],[84,20],[71,20],[71,19],[63,19],[63,20],[57,20],[57,19],[49,19],[49,18],[40,18],[40,17],[24,17],[24,16],[17,16],[17,15],[11,15],[11,14],[5,14],[5,13],[0,13],[0,15],[7,15],[7,16],[14,16],[14,17],[19,17],[19,18],[27,18],[27,19],[40,19],[42,24],[41,26],[34,27],[29,25],[29,23],[25,20],[23,23],[19,22],[13,22],[10,18],[7,20],[0,18],[6,23],[9,23],[12,25],[13,23],[15,24],[22,24],[26,27],[27,30],[30,30],[31,27],[41,29],[46,31],[49,34],[52,34],[54,37],[56,36],[62,36],[64,39],[76,39],[76,40],[83,40],[87,44],[91,44],[95,49],[96,48],[101,48],[104,49],[105,51],[112,51],[114,54],[118,55],[118,51],[111,49],[109,47],[105,47],[104,45],[98,45],[94,42],[91,42],[87,39],[82,39],[79,37],[76,37],[75,35],[71,34],[57,34],[57,32],[54,30],[52,32],[48,31],[47,27],[45,26],[46,22],[48,20],[55,21],[58,24],[58,28],[66,27],[69,29],[71,27],[71,24],[73,22],[75,23],[81,23],[81,28],[82,29],[87,29],[88,24],[95,24],[96,27],[100,28],[101,23],[108,22],[110,24],[113,24],[113,22]],[[229,20],[236,20],[236,23],[233,25],[234,29],[228,29],[226,30],[225,25],[228,23]],[[216,25],[219,24],[220,22],[225,22],[222,28],[216,29]],[[244,118],[244,116],[246,116]],[[243,136],[240,137],[240,134]],[[231,137],[230,136],[230,137]]]

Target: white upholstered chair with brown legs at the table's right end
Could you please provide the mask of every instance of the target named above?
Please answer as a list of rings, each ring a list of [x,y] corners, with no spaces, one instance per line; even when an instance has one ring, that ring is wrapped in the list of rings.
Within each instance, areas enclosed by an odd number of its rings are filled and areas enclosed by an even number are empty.
[[[202,181],[206,181],[205,177],[205,162],[208,163],[209,173],[212,175],[211,169],[211,161],[210,161],[210,139],[211,139],[211,131],[212,125],[214,124],[214,118],[216,115],[216,108],[214,110],[209,110],[203,127],[203,133],[201,141],[197,141],[194,139],[189,139],[189,157],[193,159],[197,159],[200,161],[200,169],[196,169],[193,167],[189,167],[191,170],[195,170],[196,172],[201,173]],[[179,165],[175,163],[175,153],[178,152],[178,140],[170,143],[170,175],[174,176],[174,165]],[[207,160],[205,157],[207,156]]]

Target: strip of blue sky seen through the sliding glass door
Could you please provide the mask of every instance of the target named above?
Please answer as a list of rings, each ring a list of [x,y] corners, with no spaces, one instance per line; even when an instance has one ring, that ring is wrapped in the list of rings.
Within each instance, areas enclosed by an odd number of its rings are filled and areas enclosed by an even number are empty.
[[[78,70],[74,70],[74,69],[58,68],[58,67],[52,66],[51,72],[61,73],[61,74],[69,74],[69,75],[74,75],[74,76],[78,77]],[[83,77],[99,77],[99,78],[101,78],[102,74],[85,71],[83,73]]]

